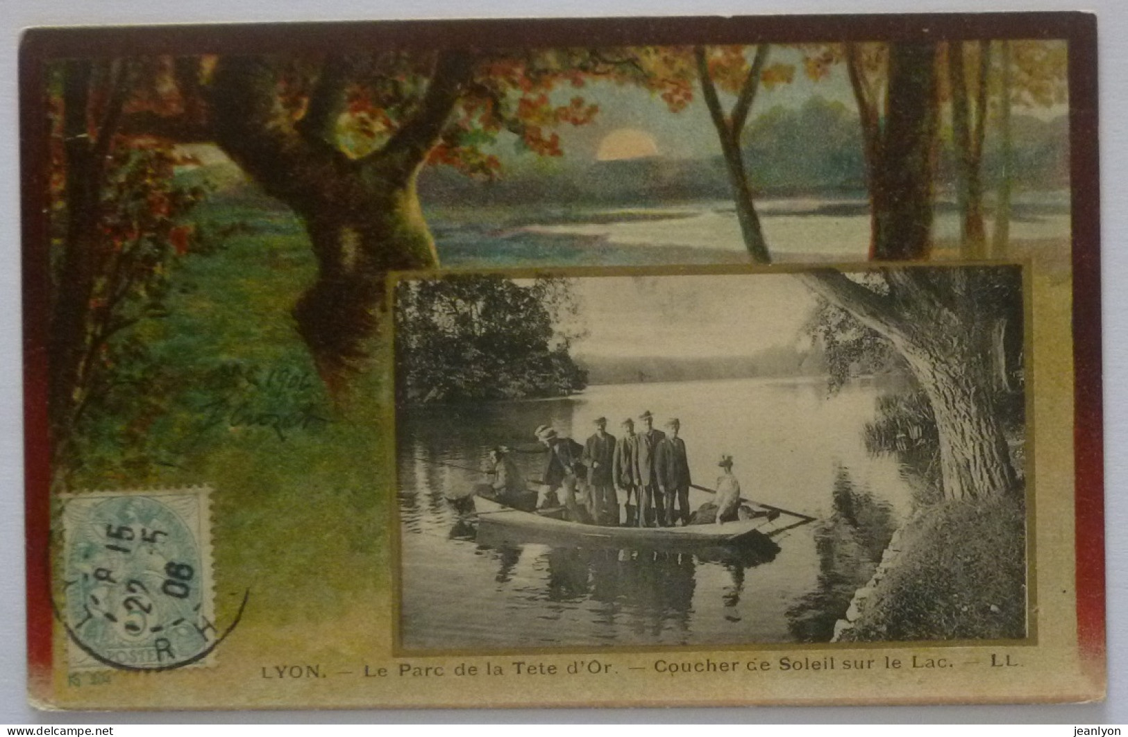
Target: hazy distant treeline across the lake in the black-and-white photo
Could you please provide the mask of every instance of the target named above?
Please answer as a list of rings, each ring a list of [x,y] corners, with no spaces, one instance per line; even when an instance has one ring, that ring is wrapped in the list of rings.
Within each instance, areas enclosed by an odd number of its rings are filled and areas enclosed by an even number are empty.
[[[823,376],[827,363],[822,352],[773,346],[750,356],[576,356],[592,384],[633,384],[655,381],[706,381],[712,379],[755,379],[758,376]]]

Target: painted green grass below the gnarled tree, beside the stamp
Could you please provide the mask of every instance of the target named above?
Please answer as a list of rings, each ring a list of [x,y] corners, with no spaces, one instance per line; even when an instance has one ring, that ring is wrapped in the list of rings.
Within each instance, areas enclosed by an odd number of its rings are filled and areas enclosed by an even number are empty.
[[[220,619],[248,589],[245,622],[337,616],[388,579],[384,372],[326,396],[290,316],[316,274],[292,215],[205,205],[195,223],[240,225],[174,265],[167,314],[135,328],[151,368],[72,488],[208,483]]]

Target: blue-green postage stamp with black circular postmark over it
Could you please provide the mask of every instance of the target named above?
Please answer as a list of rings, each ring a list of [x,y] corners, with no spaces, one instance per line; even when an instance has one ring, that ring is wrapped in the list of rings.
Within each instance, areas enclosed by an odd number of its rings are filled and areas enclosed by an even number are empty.
[[[224,632],[214,623],[201,496],[72,497],[61,613],[79,650],[72,667],[184,667],[235,627],[238,615]]]

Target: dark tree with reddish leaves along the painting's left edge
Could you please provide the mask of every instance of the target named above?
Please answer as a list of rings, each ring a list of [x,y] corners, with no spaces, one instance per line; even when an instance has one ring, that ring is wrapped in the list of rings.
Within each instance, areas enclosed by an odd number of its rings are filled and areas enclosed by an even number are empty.
[[[174,263],[194,243],[183,219],[204,194],[176,178],[190,156],[120,128],[144,68],[72,62],[52,85],[51,419],[53,451],[72,462],[89,439],[83,430],[144,402],[152,365],[132,328],[165,313]],[[141,86],[139,100],[158,92]],[[136,435],[143,425],[109,432]]]

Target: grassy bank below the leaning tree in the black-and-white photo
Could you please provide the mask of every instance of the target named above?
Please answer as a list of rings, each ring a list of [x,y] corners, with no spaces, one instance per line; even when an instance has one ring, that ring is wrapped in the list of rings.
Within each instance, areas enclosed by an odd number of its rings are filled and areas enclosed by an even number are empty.
[[[1011,639],[1026,631],[1022,492],[922,509],[844,640]]]

